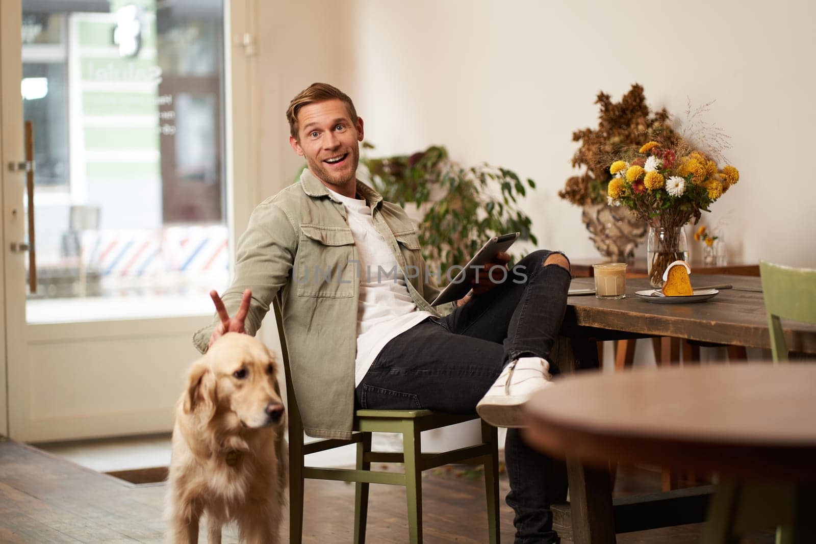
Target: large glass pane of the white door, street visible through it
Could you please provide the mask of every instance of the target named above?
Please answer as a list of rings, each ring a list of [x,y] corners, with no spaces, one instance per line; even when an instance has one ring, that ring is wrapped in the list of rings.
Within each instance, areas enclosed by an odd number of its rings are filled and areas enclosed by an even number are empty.
[[[23,0],[29,323],[200,311],[227,281],[221,3]]]

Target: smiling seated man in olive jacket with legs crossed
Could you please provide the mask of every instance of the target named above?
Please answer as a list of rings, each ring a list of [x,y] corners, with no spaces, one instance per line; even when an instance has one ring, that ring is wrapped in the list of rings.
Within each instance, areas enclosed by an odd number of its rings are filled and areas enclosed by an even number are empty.
[[[520,427],[521,406],[557,371],[548,356],[570,284],[564,255],[535,251],[513,275],[491,275],[489,267],[472,296],[431,307],[439,291],[405,211],[357,181],[363,122],[352,100],[314,83],[286,117],[291,147],[308,169],[253,212],[233,285],[223,302],[211,293],[218,316],[197,331],[197,347],[206,351],[227,331],[255,334],[279,296],[308,435],[348,439],[355,405],[477,409],[491,424]],[[516,542],[556,542],[552,461],[524,444],[517,428],[508,430],[505,453]]]

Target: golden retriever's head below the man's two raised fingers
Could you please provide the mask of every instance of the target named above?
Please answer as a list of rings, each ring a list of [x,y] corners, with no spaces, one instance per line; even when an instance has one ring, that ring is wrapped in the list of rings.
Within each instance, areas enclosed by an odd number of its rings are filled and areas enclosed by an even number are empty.
[[[224,334],[190,368],[184,412],[202,410],[212,418],[223,409],[234,414],[242,427],[279,425],[285,409],[276,373],[277,360],[258,339]]]

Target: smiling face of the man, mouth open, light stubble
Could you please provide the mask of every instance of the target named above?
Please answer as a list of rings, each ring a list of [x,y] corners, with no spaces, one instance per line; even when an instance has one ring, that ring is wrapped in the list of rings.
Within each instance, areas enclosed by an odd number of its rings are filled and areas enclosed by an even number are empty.
[[[295,153],[323,183],[344,186],[355,179],[360,161],[362,119],[348,115],[342,101],[324,100],[300,108],[298,138],[289,137]]]

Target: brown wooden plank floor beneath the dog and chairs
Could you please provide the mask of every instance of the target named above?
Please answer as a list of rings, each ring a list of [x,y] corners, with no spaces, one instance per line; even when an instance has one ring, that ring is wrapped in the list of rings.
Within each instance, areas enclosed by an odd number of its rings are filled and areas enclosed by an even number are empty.
[[[654,481],[652,481],[654,480]],[[659,474],[620,471],[616,493],[652,491]],[[501,480],[502,497],[508,491]],[[0,542],[162,542],[164,484],[127,484],[0,438]],[[423,481],[425,542],[481,544],[487,539],[481,474],[445,467]],[[307,481],[304,542],[352,542],[354,486]],[[621,543],[698,542],[701,525],[618,535]],[[288,527],[282,528],[288,537]],[[407,542],[405,490],[372,485],[367,542]],[[202,537],[202,542],[204,538]],[[236,542],[228,528],[224,542]],[[513,542],[512,511],[502,505],[502,542]],[[745,542],[774,542],[764,533]]]

